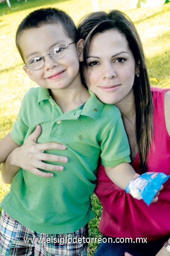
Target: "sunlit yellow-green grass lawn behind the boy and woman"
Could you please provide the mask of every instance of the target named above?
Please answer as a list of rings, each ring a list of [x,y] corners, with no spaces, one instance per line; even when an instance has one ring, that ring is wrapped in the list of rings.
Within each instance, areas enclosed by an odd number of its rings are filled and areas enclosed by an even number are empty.
[[[93,11],[91,0],[10,0],[0,3],[0,139],[16,120],[20,102],[28,90],[35,86],[22,70],[22,60],[17,53],[14,37],[20,21],[30,11],[40,7],[57,7],[68,12],[77,24],[81,17]],[[47,4],[48,3],[48,4]],[[100,10],[119,9],[124,11],[136,25],[147,57],[151,85],[169,87],[170,60],[170,4],[155,8],[130,9],[130,0],[99,0]],[[154,80],[155,79],[155,80]],[[156,82],[158,81],[158,82]],[[0,179],[0,201],[9,190]],[[92,197],[96,218],[90,222],[89,235],[100,236],[98,232],[102,208],[96,196]],[[89,245],[89,256],[94,255],[96,244]]]

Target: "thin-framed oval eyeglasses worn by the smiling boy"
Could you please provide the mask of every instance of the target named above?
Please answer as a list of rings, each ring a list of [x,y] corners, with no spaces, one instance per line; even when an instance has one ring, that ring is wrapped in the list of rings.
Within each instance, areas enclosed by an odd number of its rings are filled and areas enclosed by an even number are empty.
[[[76,42],[72,42],[72,43],[76,43]],[[55,60],[63,58],[68,52],[68,46],[70,46],[72,43],[68,43],[67,45],[55,46],[50,51],[49,54],[45,54],[43,57],[36,56],[36,57],[32,58],[31,60],[29,60],[26,63],[25,67],[29,68],[30,70],[39,70],[40,68],[43,67],[43,65],[45,63],[44,57],[47,55],[50,55],[50,57]]]

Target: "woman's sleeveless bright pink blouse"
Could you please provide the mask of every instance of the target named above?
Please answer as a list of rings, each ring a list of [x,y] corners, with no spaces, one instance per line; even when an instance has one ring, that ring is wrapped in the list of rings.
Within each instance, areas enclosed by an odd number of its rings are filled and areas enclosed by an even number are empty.
[[[170,89],[152,88],[154,102],[154,145],[147,161],[147,170],[170,174],[170,136],[164,117],[164,93]],[[139,154],[132,163],[139,172]],[[95,190],[103,213],[99,231],[112,237],[156,240],[170,235],[170,179],[164,184],[159,200],[147,206],[117,187],[99,165]]]

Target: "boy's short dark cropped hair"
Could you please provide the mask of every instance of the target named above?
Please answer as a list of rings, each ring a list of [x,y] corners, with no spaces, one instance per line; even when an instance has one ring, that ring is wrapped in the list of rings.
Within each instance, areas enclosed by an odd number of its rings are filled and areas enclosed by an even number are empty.
[[[71,17],[65,11],[57,8],[41,8],[29,13],[17,28],[15,43],[24,61],[23,53],[20,49],[19,39],[23,31],[29,28],[40,28],[45,24],[59,24],[64,28],[65,34],[73,41],[78,41],[77,27]],[[25,61],[24,61],[25,62]]]

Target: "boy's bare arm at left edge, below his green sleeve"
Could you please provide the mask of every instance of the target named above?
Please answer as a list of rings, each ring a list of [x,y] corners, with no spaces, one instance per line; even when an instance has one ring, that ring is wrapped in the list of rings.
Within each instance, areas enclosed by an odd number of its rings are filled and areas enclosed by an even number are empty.
[[[13,141],[10,134],[7,134],[0,141],[0,163],[5,162],[7,156],[15,149],[20,147],[17,143]]]

